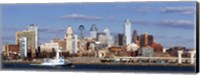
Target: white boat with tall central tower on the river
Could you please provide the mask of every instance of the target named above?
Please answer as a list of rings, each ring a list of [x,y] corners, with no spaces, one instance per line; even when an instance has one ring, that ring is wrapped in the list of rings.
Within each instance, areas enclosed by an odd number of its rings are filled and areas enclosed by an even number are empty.
[[[71,66],[72,63],[69,60],[65,60],[63,56],[60,55],[61,48],[56,50],[55,58],[45,58],[44,61],[40,64],[31,64],[38,66]]]

